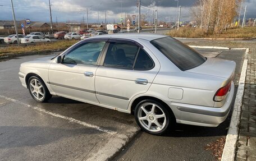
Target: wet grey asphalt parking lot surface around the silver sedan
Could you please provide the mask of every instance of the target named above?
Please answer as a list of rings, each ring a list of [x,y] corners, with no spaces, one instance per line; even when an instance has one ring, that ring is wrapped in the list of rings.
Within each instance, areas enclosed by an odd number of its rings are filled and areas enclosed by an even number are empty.
[[[244,50],[196,49],[206,57],[234,60],[237,85]],[[205,146],[225,136],[230,117],[216,128],[178,125],[171,134],[141,132],[130,114],[53,96],[36,103],[21,86],[20,63],[0,62],[0,160],[215,160]],[[135,135],[138,133],[138,135]]]

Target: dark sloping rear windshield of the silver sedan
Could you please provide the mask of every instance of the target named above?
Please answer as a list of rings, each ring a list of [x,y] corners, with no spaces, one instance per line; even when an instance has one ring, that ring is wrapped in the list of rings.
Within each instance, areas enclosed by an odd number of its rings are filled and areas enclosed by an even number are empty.
[[[164,37],[150,42],[182,71],[202,65],[206,58],[194,49],[171,37]]]

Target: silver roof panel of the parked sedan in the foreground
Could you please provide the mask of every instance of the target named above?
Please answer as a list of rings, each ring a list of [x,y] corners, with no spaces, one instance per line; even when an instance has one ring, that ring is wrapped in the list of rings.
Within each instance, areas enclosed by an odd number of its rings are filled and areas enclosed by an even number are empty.
[[[97,38],[91,37],[89,39],[98,39],[98,38],[118,38],[118,39],[145,39],[148,41],[159,39],[166,37],[166,35],[158,35],[158,34],[130,34],[130,33],[121,33],[121,34],[104,34],[99,35]]]

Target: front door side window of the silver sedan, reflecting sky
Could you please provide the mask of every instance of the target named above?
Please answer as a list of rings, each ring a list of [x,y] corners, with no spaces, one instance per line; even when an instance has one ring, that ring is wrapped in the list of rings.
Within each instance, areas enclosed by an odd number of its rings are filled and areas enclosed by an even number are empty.
[[[105,42],[92,42],[83,44],[68,53],[64,57],[63,63],[96,65],[99,54],[102,51],[104,45]]]

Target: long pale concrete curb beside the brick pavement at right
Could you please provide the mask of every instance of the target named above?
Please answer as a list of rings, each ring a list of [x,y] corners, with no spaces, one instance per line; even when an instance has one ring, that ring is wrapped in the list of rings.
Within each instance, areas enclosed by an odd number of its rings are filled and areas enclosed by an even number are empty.
[[[223,149],[221,161],[230,161],[235,159],[236,142],[238,139],[239,122],[240,122],[240,116],[241,116],[245,77],[246,77],[246,70],[247,70],[247,64],[248,64],[248,53],[249,53],[249,48],[246,48],[243,68],[241,71],[239,85],[236,93],[236,99],[234,103],[234,109],[232,112],[230,127],[228,128],[226,142]]]

